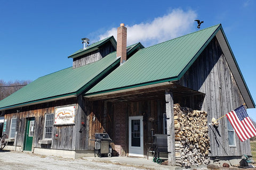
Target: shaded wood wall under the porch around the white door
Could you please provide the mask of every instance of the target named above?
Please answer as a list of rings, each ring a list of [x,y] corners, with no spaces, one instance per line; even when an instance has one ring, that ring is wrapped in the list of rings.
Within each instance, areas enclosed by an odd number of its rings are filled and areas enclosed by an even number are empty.
[[[95,107],[97,106],[97,107]],[[101,108],[101,110],[100,110]],[[153,142],[151,137],[151,123],[148,120],[149,117],[154,117],[155,121],[152,123],[152,128],[155,133],[163,134],[163,114],[165,113],[165,99],[158,100],[145,100],[136,102],[116,102],[106,103],[102,101],[94,101],[93,112],[90,114],[90,138],[94,138],[95,132],[103,132],[105,130],[111,139],[114,140],[113,147],[118,145],[122,147],[121,150],[129,152],[129,116],[143,116],[143,136],[144,136],[144,154],[150,146],[149,143]],[[120,112],[120,113],[119,113]],[[122,112],[122,113],[121,113]],[[122,117],[118,117],[114,114],[122,114]],[[96,116],[95,122],[92,122],[93,115]],[[116,117],[116,118],[115,118]],[[124,124],[118,122],[124,120]],[[101,123],[100,123],[101,122]],[[127,138],[126,138],[127,137]],[[126,139],[124,141],[124,139]],[[123,142],[124,143],[123,143]],[[94,143],[90,143],[90,148],[93,149]],[[120,153],[121,154],[121,153]],[[123,153],[124,154],[124,153]],[[124,155],[123,155],[124,156]]]

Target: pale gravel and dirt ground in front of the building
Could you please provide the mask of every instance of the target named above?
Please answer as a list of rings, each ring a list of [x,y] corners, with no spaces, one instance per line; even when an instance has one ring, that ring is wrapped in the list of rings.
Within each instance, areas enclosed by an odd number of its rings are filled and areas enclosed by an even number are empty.
[[[116,158],[112,158],[113,160]],[[127,158],[126,158],[127,159]],[[141,161],[141,160],[140,160]],[[149,163],[148,163],[149,164]],[[110,162],[108,158],[94,158],[94,157],[85,157],[78,159],[62,158],[57,156],[44,156],[38,154],[32,154],[29,152],[19,152],[19,151],[9,151],[9,150],[0,150],[0,170],[11,169],[11,170],[27,170],[27,169],[58,169],[58,170],[100,170],[100,169],[175,169],[168,166],[159,166],[156,163],[153,163],[154,166],[143,166],[143,164],[125,164],[118,162]],[[182,167],[178,168],[179,170],[185,169]],[[195,170],[208,170],[208,168],[189,168]],[[237,167],[217,167],[209,169],[220,169],[220,170],[243,170],[242,168]],[[246,170],[255,170],[256,168],[247,168]]]

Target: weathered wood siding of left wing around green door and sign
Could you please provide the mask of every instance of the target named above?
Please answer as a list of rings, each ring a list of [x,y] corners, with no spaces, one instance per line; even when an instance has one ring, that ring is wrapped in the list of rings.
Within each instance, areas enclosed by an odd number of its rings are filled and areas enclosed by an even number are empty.
[[[16,126],[16,131],[18,132],[17,146],[21,146],[21,148],[23,148],[23,142],[24,142],[25,131],[26,131],[26,118],[35,117],[35,129],[34,129],[32,147],[41,148],[41,144],[38,143],[38,140],[41,140],[44,138],[45,114],[54,113],[54,108],[56,106],[66,106],[66,105],[76,104],[76,102],[77,102],[76,98],[70,98],[70,99],[53,101],[45,104],[26,106],[22,108],[4,111],[5,119],[7,120],[5,133],[10,134],[11,119],[17,118],[17,126]],[[77,117],[76,117],[76,124],[77,124],[77,121],[79,121]],[[73,138],[76,134],[75,132],[77,131],[75,128],[76,128],[75,125],[53,126],[52,148],[75,150],[74,140],[76,138]],[[58,138],[55,138],[55,133],[59,134]]]

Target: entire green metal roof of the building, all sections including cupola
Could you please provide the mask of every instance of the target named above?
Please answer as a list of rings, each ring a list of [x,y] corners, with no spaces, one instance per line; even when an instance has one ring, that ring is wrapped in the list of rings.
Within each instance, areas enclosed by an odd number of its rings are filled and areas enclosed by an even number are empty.
[[[223,32],[221,24],[148,48],[144,48],[140,43],[131,45],[127,47],[127,55],[131,55],[134,50],[139,49],[138,52],[92,88],[90,87],[92,83],[99,80],[103,75],[105,76],[105,73],[111,67],[119,63],[119,58],[116,58],[116,52],[110,53],[97,62],[76,69],[69,67],[45,75],[1,100],[0,111],[41,101],[45,102],[55,98],[78,95],[89,90],[89,87],[91,89],[85,93],[85,96],[179,80],[210,43],[211,39],[216,35],[217,38],[221,37],[217,34],[219,32]],[[225,41],[226,46],[228,46],[224,52],[227,51],[230,54],[230,56],[227,55],[228,60],[230,60],[229,64],[234,63],[234,66],[231,66],[231,70],[234,67],[233,72],[237,72],[234,74],[237,76],[236,81],[241,81],[238,82],[238,86],[239,88],[244,88],[244,90],[242,89],[242,94],[248,94],[245,100],[251,100],[252,107],[254,107],[255,104],[231,52],[226,36],[223,36],[223,42]],[[97,48],[98,45],[103,42],[106,43],[109,39],[114,39],[114,37],[99,41],[94,46],[91,45],[92,47],[90,48]],[[78,51],[69,57],[81,56],[84,54],[83,52],[84,50]]]

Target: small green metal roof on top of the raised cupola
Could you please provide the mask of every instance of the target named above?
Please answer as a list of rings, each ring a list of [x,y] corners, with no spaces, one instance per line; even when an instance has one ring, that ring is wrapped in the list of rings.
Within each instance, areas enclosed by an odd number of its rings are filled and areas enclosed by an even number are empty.
[[[97,43],[93,43],[92,45],[87,46],[85,49],[83,49],[83,48],[79,49],[77,52],[68,56],[68,58],[76,58],[76,57],[79,57],[79,56],[84,55],[86,53],[90,53],[90,52],[98,49],[99,46],[107,43],[107,41],[109,41],[109,40],[111,41],[113,46],[116,48],[116,40],[115,40],[114,36],[111,36],[111,37],[102,39],[102,40],[98,41]]]

